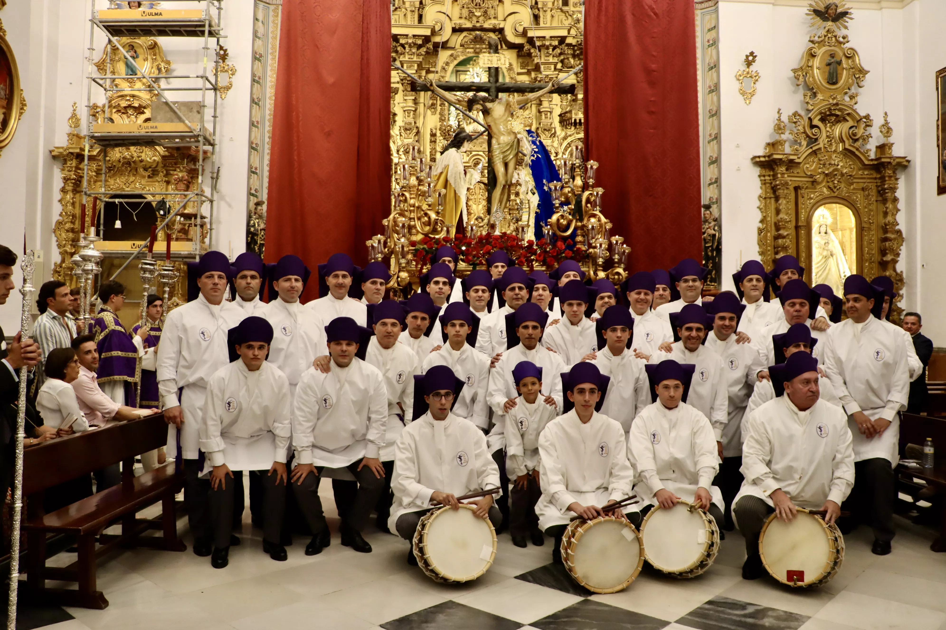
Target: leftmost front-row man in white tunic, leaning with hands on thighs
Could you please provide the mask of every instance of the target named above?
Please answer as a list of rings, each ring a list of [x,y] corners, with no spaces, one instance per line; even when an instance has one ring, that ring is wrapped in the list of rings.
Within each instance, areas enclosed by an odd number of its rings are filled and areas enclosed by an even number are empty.
[[[279,544],[286,508],[286,458],[289,454],[289,381],[266,361],[272,326],[250,315],[228,333],[229,366],[210,377],[201,417],[203,475],[210,476],[215,569],[227,566],[234,513],[234,474],[257,470],[264,485],[263,552],[286,560]],[[268,472],[267,472],[268,471]]]

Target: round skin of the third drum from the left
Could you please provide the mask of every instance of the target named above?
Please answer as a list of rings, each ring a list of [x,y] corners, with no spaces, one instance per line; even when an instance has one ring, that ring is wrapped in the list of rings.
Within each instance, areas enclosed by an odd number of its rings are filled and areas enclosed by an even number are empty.
[[[706,556],[710,541],[706,519],[687,507],[687,503],[677,503],[669,510],[657,506],[640,530],[647,561],[658,570],[689,570]]]

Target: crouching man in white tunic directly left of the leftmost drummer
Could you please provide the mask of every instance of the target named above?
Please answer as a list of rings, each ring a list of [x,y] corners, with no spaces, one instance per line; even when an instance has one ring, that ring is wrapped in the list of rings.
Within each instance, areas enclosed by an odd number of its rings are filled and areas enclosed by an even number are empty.
[[[363,329],[351,317],[336,317],[325,327],[332,366],[328,374],[309,368],[299,381],[292,407],[295,462],[293,494],[312,530],[307,555],[328,546],[328,524],[319,499],[322,471],[348,468],[358,481],[351,505],[339,505],[342,545],[371,553],[361,537],[371,510],[384,489],[379,459],[388,424],[384,376],[355,356]]]

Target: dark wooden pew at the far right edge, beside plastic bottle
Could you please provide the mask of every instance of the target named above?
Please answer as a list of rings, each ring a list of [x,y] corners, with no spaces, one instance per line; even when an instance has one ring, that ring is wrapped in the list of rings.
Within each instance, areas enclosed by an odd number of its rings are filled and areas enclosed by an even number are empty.
[[[926,438],[933,438],[935,450],[934,468],[907,468],[902,464],[895,468],[898,476],[898,488],[908,494],[915,494],[921,488],[913,480],[920,479],[936,492],[936,496],[926,501],[938,505],[939,536],[930,545],[934,552],[946,552],[946,419],[932,416],[903,414],[900,421],[900,453],[907,444],[922,447]],[[911,489],[913,492],[911,492]]]

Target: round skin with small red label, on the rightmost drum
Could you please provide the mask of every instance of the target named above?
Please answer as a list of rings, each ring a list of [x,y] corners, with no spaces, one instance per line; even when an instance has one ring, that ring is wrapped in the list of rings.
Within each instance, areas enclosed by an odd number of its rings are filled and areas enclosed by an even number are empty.
[[[793,584],[793,578],[797,586],[815,584],[831,570],[832,547],[824,521],[805,512],[798,512],[790,523],[770,520],[759,550],[765,567],[786,584]]]

